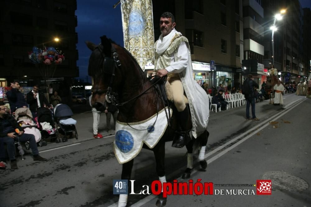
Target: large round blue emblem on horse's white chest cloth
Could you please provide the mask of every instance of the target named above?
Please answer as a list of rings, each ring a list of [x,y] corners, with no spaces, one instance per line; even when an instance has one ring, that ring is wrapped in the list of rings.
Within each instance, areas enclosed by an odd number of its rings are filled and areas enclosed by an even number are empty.
[[[119,130],[115,134],[115,143],[121,152],[127,153],[133,149],[134,139],[130,132]]]

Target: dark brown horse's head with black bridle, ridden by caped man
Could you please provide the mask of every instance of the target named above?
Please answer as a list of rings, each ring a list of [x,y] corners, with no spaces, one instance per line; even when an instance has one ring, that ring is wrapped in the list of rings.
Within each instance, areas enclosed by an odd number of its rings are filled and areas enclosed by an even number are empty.
[[[92,77],[91,104],[97,110],[104,110],[104,102],[115,101],[116,90],[122,80],[116,45],[106,36],[102,36],[101,43],[95,45],[86,41],[86,45],[93,52],[89,60],[88,74]],[[117,76],[118,78],[114,78]],[[107,98],[106,98],[107,97]]]

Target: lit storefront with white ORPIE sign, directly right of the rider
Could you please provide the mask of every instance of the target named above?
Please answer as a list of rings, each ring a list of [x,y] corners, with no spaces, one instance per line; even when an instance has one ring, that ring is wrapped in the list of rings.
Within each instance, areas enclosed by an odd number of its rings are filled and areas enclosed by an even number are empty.
[[[197,81],[199,85],[204,82],[208,84],[208,88],[211,87],[211,67],[209,63],[192,62],[193,79]]]

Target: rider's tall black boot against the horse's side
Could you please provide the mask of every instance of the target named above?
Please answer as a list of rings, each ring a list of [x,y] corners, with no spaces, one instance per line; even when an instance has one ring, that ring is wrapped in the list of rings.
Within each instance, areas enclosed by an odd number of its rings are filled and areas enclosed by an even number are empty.
[[[187,131],[187,121],[189,117],[188,107],[182,112],[178,112],[176,117],[178,118],[179,130],[175,132],[172,147],[182,148],[191,140]]]

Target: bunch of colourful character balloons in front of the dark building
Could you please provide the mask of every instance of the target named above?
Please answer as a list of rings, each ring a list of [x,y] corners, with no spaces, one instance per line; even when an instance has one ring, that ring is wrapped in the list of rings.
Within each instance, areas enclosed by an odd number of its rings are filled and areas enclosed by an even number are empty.
[[[32,48],[32,52],[28,52],[29,59],[32,63],[44,63],[45,65],[51,65],[55,63],[56,65],[60,64],[65,60],[64,54],[61,50],[57,50],[53,47],[48,49],[39,49],[37,47]]]

